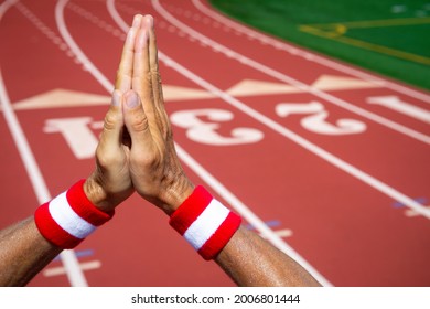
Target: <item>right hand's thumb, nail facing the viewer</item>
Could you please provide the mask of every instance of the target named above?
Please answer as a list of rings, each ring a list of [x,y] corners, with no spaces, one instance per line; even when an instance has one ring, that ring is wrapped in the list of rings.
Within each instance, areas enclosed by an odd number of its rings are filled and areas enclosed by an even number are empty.
[[[129,90],[123,95],[122,114],[132,147],[143,149],[150,146],[152,142],[151,130],[142,102],[136,92]]]

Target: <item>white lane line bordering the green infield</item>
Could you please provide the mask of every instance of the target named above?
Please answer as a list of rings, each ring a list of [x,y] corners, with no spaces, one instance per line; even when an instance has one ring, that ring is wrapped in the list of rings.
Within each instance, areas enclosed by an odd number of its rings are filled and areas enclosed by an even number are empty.
[[[363,78],[365,81],[377,83],[378,85],[384,86],[386,88],[389,88],[389,89],[391,89],[394,92],[405,94],[407,96],[420,99],[420,100],[426,102],[426,103],[430,103],[430,96],[429,95],[426,95],[426,94],[417,92],[415,89],[405,87],[404,85],[400,85],[400,84],[397,84],[397,83],[393,83],[390,81],[383,79],[383,78],[379,78],[377,76],[367,74],[365,72],[355,70],[354,67],[350,67],[347,65],[343,65],[343,64],[334,62],[334,61],[332,61],[330,58],[324,58],[324,57],[322,57],[320,55],[309,53],[309,52],[303,51],[303,50],[301,50],[299,47],[292,46],[292,45],[290,45],[290,44],[288,44],[288,43],[286,43],[283,41],[277,40],[275,38],[266,35],[264,33],[257,32],[257,31],[252,30],[251,28],[248,28],[248,26],[243,25],[243,24],[240,24],[238,22],[235,22],[234,20],[228,19],[228,18],[217,13],[216,11],[207,8],[206,6],[204,6],[202,3],[201,0],[192,0],[192,1],[193,1],[194,6],[201,12],[203,12],[204,14],[211,17],[214,20],[217,20],[218,22],[223,23],[225,26],[229,26],[232,29],[235,29],[236,31],[239,31],[241,33],[245,33],[245,34],[249,35],[250,38],[254,38],[254,39],[257,39],[257,40],[259,40],[261,42],[270,44],[271,46],[273,46],[276,49],[283,50],[284,52],[288,52],[289,54],[292,54],[292,55],[295,55],[295,56],[301,56],[301,57],[303,57],[303,58],[305,58],[308,61],[313,61],[313,62],[319,63],[321,65],[324,65],[326,67],[331,67],[331,68],[337,70],[340,72],[343,72],[343,73],[346,73],[346,74],[350,74],[350,75]]]

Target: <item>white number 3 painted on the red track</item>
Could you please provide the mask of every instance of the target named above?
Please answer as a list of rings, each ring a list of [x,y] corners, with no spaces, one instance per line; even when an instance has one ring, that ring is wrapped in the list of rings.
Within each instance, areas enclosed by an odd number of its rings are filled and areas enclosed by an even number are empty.
[[[203,121],[201,117],[206,117],[211,122]],[[187,129],[186,136],[194,141],[214,145],[214,146],[230,146],[258,142],[264,138],[264,134],[251,128],[235,128],[230,136],[225,137],[216,130],[219,129],[219,124],[232,121],[234,114],[224,109],[193,109],[181,110],[171,115],[172,124],[178,127]]]

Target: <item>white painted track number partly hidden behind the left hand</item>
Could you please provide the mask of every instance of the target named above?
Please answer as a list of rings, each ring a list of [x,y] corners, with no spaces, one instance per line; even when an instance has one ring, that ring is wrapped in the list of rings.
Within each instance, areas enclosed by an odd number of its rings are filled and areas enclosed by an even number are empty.
[[[77,159],[89,159],[95,154],[97,137],[92,128],[100,128],[103,121],[93,122],[90,117],[47,119],[43,131],[60,132]]]

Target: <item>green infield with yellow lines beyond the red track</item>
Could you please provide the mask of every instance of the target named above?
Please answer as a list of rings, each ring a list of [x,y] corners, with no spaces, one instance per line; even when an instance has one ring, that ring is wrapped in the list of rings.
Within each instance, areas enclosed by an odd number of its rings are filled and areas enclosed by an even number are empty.
[[[430,0],[211,0],[264,32],[430,89]]]

